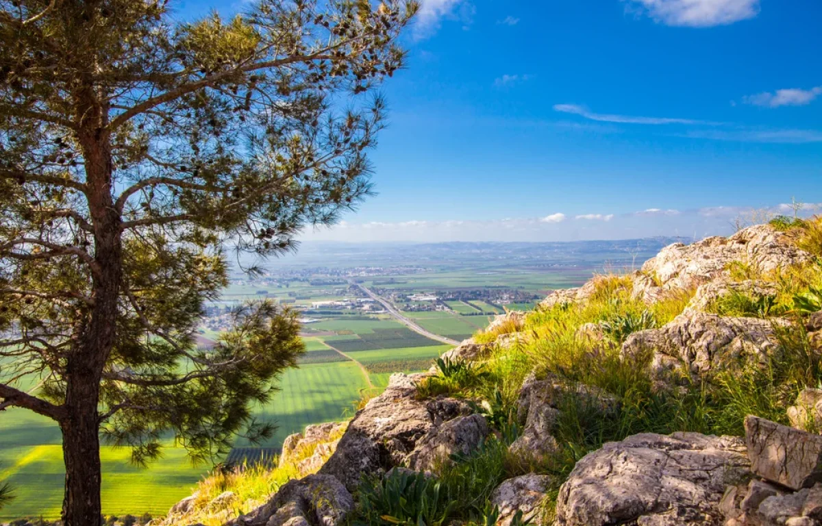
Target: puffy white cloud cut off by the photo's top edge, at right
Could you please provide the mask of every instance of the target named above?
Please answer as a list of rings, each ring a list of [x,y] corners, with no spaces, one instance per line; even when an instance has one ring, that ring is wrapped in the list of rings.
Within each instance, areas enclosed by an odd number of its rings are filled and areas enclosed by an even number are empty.
[[[665,25],[711,27],[753,18],[760,0],[627,0]]]

